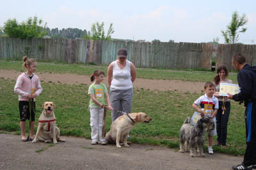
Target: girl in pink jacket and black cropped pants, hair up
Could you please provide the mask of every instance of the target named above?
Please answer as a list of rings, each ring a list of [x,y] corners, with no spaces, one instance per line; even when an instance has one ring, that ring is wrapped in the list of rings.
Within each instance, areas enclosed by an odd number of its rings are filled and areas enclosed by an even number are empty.
[[[14,92],[19,94],[19,111],[20,111],[20,130],[21,141],[27,141],[25,134],[26,120],[31,117],[31,128],[29,138],[31,141],[34,139],[35,127],[35,97],[39,96],[42,92],[40,80],[34,72],[36,71],[36,61],[28,59],[27,56],[23,57],[22,67],[26,67],[26,72],[21,73],[17,78]],[[29,113],[29,100],[31,101],[31,115]],[[33,109],[32,109],[33,108]]]

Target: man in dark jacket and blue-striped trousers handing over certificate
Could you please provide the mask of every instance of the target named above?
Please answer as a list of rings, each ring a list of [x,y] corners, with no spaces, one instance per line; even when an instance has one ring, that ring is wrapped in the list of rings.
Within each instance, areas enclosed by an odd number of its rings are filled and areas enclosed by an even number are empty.
[[[237,81],[240,87],[239,94],[228,94],[228,99],[244,103],[246,107],[244,117],[246,124],[246,151],[242,164],[233,166],[233,169],[256,168],[256,67],[246,64],[245,57],[240,53],[232,57],[232,65],[239,71]]]

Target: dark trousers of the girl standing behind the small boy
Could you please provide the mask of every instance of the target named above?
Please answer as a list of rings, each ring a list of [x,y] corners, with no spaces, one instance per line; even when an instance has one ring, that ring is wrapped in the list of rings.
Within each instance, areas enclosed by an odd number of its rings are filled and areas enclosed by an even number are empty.
[[[228,126],[228,117],[230,113],[230,101],[225,102],[225,108],[224,114],[222,115],[222,105],[223,102],[219,101],[219,109],[216,114],[216,128],[217,128],[217,141],[221,145],[226,145],[226,139],[227,139],[227,126]]]

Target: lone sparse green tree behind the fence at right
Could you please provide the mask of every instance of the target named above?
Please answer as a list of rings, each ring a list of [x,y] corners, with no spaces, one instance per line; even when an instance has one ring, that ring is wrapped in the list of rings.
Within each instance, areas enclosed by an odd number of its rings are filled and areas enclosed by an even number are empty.
[[[230,24],[227,25],[226,31],[221,31],[222,36],[225,38],[225,43],[227,44],[235,44],[237,43],[239,39],[239,32],[245,32],[247,30],[246,27],[243,27],[243,25],[246,25],[248,22],[248,19],[245,14],[239,15],[237,11],[234,11],[232,14],[232,20]],[[241,27],[241,31],[239,31],[239,28]]]

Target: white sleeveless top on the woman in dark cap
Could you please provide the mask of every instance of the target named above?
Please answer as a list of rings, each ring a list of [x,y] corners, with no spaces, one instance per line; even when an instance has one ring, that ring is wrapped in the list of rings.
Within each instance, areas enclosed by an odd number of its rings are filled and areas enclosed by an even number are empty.
[[[127,90],[132,88],[131,64],[129,60],[126,60],[124,69],[118,67],[116,60],[113,61],[113,78],[110,88],[116,90]]]

